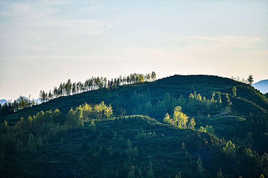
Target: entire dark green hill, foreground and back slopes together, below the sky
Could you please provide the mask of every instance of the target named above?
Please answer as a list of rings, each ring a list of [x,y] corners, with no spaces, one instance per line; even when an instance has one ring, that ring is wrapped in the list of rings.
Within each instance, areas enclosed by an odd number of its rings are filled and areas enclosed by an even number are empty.
[[[59,97],[2,117],[0,176],[268,176],[267,102],[206,75]]]

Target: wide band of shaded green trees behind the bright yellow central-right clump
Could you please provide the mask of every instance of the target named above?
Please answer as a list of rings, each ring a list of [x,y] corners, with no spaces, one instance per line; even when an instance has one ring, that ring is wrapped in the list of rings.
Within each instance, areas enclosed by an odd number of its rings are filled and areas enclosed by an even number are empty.
[[[229,98],[229,97],[228,97]],[[166,112],[171,112],[176,106],[181,106],[184,111],[190,114],[200,114],[200,112],[221,112],[223,110],[223,103],[221,94],[218,93],[217,97],[213,92],[211,99],[202,98],[200,94],[194,92],[189,95],[188,100],[185,100],[181,95],[179,98],[171,97],[166,93],[163,100],[158,100],[154,106],[151,103],[151,92],[148,89],[143,94],[133,93],[131,103],[133,104],[132,114],[143,115],[164,115]],[[230,100],[230,99],[229,99]],[[229,106],[229,105],[228,105]],[[231,111],[231,108],[228,107]],[[228,113],[229,113],[229,110]]]

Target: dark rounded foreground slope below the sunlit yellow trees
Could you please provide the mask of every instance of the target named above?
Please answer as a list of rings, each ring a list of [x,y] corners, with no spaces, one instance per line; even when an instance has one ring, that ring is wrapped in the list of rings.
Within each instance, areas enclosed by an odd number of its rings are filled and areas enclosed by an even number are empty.
[[[138,177],[150,172],[155,177],[179,172],[183,177],[215,177],[220,168],[226,175],[245,175],[245,168],[230,166],[236,158],[222,151],[226,142],[209,133],[180,130],[145,116],[101,121],[95,127],[69,130],[27,155],[7,155],[6,176],[127,177],[132,171]],[[18,167],[12,167],[14,162]]]

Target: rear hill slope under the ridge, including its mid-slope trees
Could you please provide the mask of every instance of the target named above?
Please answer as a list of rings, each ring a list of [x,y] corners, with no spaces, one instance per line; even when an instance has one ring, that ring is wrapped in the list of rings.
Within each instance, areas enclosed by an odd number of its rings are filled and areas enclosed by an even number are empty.
[[[236,96],[232,91],[234,86],[236,87]],[[193,95],[193,99],[197,100],[196,103],[189,103],[190,94]],[[200,101],[197,99],[198,94],[202,99]],[[226,94],[228,94],[227,97]],[[219,95],[222,104],[215,103],[218,102]],[[237,115],[267,112],[268,110],[267,98],[249,84],[211,75],[174,75],[155,82],[121,85],[110,90],[101,88],[59,97],[40,105],[19,110],[15,114],[5,115],[2,120],[15,123],[21,116],[27,117],[41,110],[55,108],[66,114],[71,107],[77,107],[85,102],[100,103],[101,101],[111,103],[114,109],[117,105],[124,108],[126,114],[144,114],[159,119],[164,116],[164,112],[159,111],[161,107],[166,108],[162,109],[163,111],[172,111],[176,104],[181,105],[182,110],[189,115],[216,115],[220,114],[228,105],[228,98],[232,104],[229,112],[234,112]]]

